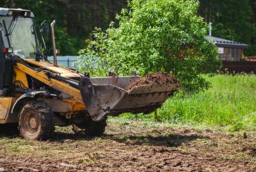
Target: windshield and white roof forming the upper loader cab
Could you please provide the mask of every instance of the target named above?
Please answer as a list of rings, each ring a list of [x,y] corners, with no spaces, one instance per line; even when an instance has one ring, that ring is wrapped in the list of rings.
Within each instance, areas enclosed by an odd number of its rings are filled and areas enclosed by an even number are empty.
[[[35,58],[40,52],[33,17],[29,10],[0,8],[3,46],[13,48],[12,56]]]

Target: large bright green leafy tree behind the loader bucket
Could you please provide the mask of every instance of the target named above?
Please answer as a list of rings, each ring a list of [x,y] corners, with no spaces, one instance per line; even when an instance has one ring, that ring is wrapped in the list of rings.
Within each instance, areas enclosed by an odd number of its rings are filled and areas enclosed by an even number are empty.
[[[216,46],[206,39],[208,25],[197,16],[198,1],[134,0],[106,32],[93,32],[80,51],[77,68],[102,76],[109,70],[129,75],[165,71],[183,88],[198,92],[209,86],[201,76],[219,69]]]

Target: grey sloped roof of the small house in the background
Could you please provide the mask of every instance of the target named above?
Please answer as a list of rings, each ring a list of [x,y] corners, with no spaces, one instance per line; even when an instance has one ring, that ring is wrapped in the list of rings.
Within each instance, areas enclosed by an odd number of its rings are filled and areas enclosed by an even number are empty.
[[[217,47],[234,47],[234,48],[241,48],[241,49],[249,47],[248,44],[244,44],[236,41],[230,41],[227,39],[221,39],[214,36],[207,36],[207,38],[210,39],[210,41],[214,41]]]

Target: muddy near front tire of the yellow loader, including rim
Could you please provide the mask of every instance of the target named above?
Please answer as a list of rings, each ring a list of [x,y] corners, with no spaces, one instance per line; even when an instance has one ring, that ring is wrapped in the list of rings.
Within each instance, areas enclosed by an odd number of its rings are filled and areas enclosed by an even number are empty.
[[[55,130],[50,107],[40,101],[29,101],[19,114],[19,133],[28,140],[46,140]]]

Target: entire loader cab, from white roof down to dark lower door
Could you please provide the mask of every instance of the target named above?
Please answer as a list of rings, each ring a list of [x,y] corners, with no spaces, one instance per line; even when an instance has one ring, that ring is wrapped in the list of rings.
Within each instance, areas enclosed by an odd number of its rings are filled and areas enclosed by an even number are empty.
[[[0,96],[12,85],[12,58],[41,54],[33,17],[30,10],[0,8]]]

